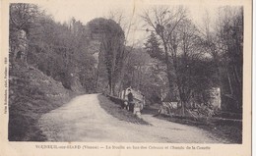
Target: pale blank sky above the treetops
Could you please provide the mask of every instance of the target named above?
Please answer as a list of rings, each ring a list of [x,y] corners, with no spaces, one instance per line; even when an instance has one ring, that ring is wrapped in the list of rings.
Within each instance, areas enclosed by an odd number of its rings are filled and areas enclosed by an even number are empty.
[[[189,16],[196,25],[202,26],[202,19],[206,15],[206,11],[214,21],[220,3],[206,3],[203,0],[201,0],[201,3],[193,3],[193,1],[195,0],[187,1],[190,3],[186,3],[185,7],[190,10]],[[173,0],[46,0],[43,3],[38,3],[38,6],[45,10],[47,14],[52,15],[56,22],[68,22],[74,17],[85,25],[95,18],[107,18],[110,11],[122,12],[126,23],[130,21],[133,23],[127,36],[128,44],[141,45],[149,35],[149,32],[143,30],[146,27],[143,27],[143,22],[138,16],[142,15],[142,10],[153,5],[175,5],[176,3]],[[222,5],[224,4],[222,3]]]

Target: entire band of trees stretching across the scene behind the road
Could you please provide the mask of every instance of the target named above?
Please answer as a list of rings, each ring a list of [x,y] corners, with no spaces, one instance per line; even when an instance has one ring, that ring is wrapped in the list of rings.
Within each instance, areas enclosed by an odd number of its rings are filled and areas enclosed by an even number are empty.
[[[206,24],[205,30],[182,6],[150,8],[141,18],[151,34],[144,48],[135,48],[126,45],[122,15],[111,17],[117,22],[97,18],[84,26],[72,18],[60,24],[34,4],[13,3],[10,76],[22,66],[15,62],[22,50],[28,63],[24,66],[35,67],[73,91],[107,89],[116,96],[132,86],[148,103],[160,103],[163,97],[178,100],[184,115],[191,101],[210,108],[208,90],[220,87],[223,108],[242,112],[243,8],[221,8],[215,27]]]

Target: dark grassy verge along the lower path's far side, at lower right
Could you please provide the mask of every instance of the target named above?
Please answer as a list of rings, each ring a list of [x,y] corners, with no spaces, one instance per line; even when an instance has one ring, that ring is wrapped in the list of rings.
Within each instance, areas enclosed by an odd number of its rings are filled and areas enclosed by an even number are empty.
[[[156,115],[157,112],[158,112],[157,109],[146,108],[143,113]],[[173,123],[188,125],[192,127],[197,127],[199,129],[207,130],[213,135],[217,136],[217,138],[222,138],[229,143],[237,143],[237,144],[242,143],[242,125],[239,125],[239,124],[234,125],[233,123],[228,124],[226,122],[225,123],[223,122],[203,123],[200,121],[192,121],[186,118],[180,119],[180,118],[169,117],[164,115],[157,116],[156,118],[160,120],[166,120]]]

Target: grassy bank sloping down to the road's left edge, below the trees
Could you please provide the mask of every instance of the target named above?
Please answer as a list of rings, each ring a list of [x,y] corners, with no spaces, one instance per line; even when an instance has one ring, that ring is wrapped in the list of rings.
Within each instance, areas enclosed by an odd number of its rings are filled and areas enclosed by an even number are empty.
[[[44,140],[37,120],[66,103],[73,93],[33,67],[16,66],[9,75],[9,140]]]

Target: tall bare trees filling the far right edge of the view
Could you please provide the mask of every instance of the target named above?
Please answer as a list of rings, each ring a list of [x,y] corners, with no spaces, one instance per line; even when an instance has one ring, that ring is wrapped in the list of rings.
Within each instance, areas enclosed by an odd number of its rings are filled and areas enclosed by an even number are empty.
[[[202,43],[214,60],[216,82],[222,89],[223,109],[241,112],[243,8],[220,8],[215,27],[205,31]]]

